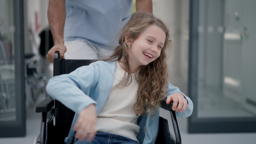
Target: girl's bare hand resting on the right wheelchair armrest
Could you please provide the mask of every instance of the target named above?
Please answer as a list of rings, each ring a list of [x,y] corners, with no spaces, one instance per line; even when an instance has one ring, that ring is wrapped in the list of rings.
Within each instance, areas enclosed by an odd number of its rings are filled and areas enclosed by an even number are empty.
[[[172,95],[169,95],[168,98],[166,99],[166,104],[170,104],[171,101],[173,101],[173,111],[183,112],[188,108],[188,101],[180,92],[175,92]]]

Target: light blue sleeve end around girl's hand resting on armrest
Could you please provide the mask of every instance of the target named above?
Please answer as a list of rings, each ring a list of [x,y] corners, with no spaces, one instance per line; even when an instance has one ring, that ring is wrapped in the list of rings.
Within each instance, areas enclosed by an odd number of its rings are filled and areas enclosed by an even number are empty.
[[[166,97],[168,97],[169,95],[173,94],[174,92],[180,92],[180,89],[178,87],[173,86],[172,84],[169,83],[168,86],[167,86],[167,95],[166,95]],[[183,112],[175,112],[175,114],[178,117],[181,117],[181,118],[189,117],[192,114],[192,111],[193,111],[193,107],[194,107],[193,102],[183,92],[180,92],[180,93],[182,95],[184,95],[184,97],[188,101],[188,108],[185,111],[183,111]]]

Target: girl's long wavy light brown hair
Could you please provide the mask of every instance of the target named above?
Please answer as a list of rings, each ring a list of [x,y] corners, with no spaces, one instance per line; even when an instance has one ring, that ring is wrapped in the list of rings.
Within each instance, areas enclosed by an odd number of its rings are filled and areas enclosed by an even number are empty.
[[[150,114],[151,116],[156,115],[157,107],[160,106],[161,101],[166,96],[166,86],[168,84],[166,49],[171,46],[169,29],[162,20],[155,17],[153,14],[136,12],[132,14],[131,19],[123,27],[119,37],[119,46],[115,48],[109,58],[104,59],[104,61],[122,61],[125,65],[125,69],[130,70],[128,63],[129,48],[125,43],[125,36],[129,35],[128,40],[134,41],[151,25],[158,26],[162,29],[166,34],[166,39],[160,56],[148,65],[140,66],[139,71],[136,73],[136,80],[138,81],[139,87],[134,110],[137,115],[143,115],[144,113]],[[131,74],[129,74],[128,78],[129,77],[131,77]],[[128,83],[128,78],[126,84]],[[153,115],[151,114],[151,110],[154,110]]]

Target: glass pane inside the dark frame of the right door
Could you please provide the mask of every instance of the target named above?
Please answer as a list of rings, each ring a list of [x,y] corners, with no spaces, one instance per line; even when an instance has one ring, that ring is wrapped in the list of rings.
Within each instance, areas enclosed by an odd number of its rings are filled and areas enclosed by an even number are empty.
[[[255,117],[256,2],[200,2],[197,116]]]

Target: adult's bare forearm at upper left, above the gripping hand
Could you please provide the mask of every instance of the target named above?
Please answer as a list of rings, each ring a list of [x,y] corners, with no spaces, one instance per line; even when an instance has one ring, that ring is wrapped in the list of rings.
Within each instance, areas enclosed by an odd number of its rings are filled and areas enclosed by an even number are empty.
[[[49,0],[48,20],[54,44],[64,44],[65,0]]]

